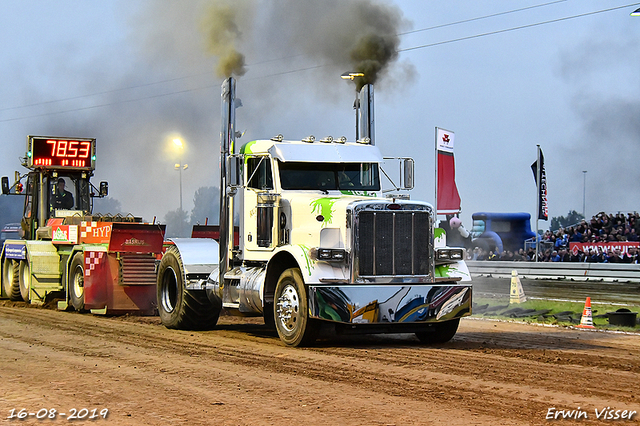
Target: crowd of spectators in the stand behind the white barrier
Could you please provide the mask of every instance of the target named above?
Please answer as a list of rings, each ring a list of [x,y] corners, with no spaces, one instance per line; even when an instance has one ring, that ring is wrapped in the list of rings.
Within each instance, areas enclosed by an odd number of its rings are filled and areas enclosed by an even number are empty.
[[[555,232],[546,231],[540,237],[538,262],[593,262],[593,263],[638,263],[640,250],[628,247],[626,252],[620,249],[595,246],[598,243],[619,243],[640,241],[640,214],[604,212],[593,216],[590,221],[582,220],[579,224],[560,228]],[[593,244],[588,250],[572,251],[569,243]],[[516,252],[504,250],[487,251],[481,247],[467,250],[468,260],[502,260],[502,261],[535,261],[535,247]]]

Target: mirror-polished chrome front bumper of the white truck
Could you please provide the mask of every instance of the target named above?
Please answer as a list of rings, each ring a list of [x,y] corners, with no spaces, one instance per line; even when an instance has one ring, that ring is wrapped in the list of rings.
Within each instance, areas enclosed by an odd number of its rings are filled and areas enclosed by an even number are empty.
[[[470,284],[309,285],[309,315],[344,324],[410,324],[471,315]]]

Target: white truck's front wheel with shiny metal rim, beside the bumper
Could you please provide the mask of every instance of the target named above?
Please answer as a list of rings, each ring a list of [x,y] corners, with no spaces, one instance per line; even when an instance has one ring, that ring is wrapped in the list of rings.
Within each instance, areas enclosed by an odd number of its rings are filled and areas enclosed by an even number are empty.
[[[287,346],[308,346],[318,336],[319,324],[309,318],[307,291],[298,268],[285,270],[276,285],[274,319],[280,340]]]

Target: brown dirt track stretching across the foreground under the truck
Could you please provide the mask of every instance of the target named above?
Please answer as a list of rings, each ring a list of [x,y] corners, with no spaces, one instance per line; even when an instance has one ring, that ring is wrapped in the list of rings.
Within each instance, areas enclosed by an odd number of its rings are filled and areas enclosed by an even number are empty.
[[[0,306],[0,418],[11,410],[109,409],[109,425],[536,425],[556,410],[640,412],[640,336],[462,321],[454,340],[336,338],[284,347],[258,319],[167,330]],[[44,413],[42,411],[41,413]],[[60,415],[45,423],[67,422]],[[83,422],[85,423],[85,422]]]

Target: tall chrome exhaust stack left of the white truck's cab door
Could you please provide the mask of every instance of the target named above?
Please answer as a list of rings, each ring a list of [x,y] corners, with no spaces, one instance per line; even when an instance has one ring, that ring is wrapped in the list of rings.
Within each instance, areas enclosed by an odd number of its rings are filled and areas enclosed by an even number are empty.
[[[222,130],[220,132],[220,260],[219,286],[231,268],[233,256],[233,199],[229,188],[229,156],[234,153],[236,138],[236,81],[229,77],[222,83]]]

